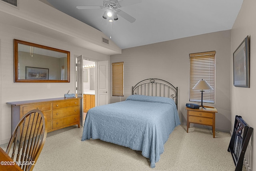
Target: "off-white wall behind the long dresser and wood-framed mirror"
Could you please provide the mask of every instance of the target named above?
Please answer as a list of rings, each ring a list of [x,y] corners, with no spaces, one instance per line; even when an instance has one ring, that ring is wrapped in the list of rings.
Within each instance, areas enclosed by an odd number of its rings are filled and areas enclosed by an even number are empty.
[[[0,30],[0,144],[3,144],[8,143],[11,135],[11,106],[7,105],[6,102],[64,97],[64,93],[67,93],[68,90],[70,90],[70,93],[74,93],[75,56],[82,54],[95,61],[109,61],[110,56],[1,23]],[[70,83],[14,83],[13,39],[70,51]],[[50,89],[47,88],[48,84],[50,84]]]

